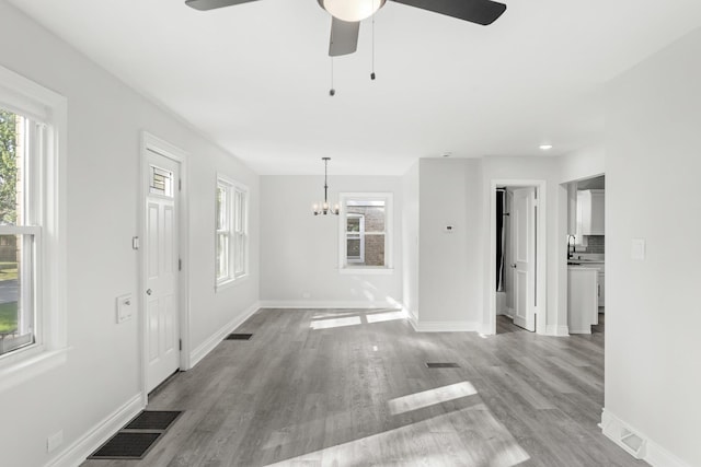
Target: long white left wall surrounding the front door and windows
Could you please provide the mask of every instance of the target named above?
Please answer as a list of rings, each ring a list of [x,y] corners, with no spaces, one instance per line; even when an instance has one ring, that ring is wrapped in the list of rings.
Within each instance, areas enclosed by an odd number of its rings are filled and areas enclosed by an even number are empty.
[[[151,105],[14,8],[0,1],[0,65],[68,100],[67,362],[0,394],[2,465],[47,464],[111,413],[139,395],[139,319],[117,325],[115,297],[140,296],[140,132],[192,154],[192,347],[200,345],[257,300],[257,269],[248,283],[214,293],[215,171],[258,182],[221,150]],[[252,265],[257,262],[257,219],[252,219]],[[62,430],[64,444],[47,454],[47,436]],[[95,446],[96,447],[96,446]]]

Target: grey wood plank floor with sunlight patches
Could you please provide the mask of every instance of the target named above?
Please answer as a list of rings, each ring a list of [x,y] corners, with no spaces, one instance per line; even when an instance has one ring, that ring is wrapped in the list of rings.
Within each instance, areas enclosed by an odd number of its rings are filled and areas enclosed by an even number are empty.
[[[262,310],[149,409],[185,410],[142,466],[637,466],[597,423],[590,336],[414,332],[388,311]],[[459,369],[427,369],[456,362]]]

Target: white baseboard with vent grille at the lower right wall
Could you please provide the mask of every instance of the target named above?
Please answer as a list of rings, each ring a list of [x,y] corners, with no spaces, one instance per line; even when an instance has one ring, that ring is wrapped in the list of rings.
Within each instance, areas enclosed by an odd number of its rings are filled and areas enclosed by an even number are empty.
[[[610,410],[604,409],[601,412],[600,428],[606,437],[633,457],[643,459],[653,467],[691,467],[691,464],[681,460]],[[631,437],[635,443],[628,441]]]

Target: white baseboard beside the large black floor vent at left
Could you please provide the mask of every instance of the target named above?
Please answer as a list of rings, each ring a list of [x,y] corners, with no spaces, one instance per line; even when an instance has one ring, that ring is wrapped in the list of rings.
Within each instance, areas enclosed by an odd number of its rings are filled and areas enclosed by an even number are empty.
[[[140,393],[131,397],[101,422],[87,430],[83,436],[49,460],[46,467],[74,467],[82,464],[89,455],[127,424],[145,407]]]

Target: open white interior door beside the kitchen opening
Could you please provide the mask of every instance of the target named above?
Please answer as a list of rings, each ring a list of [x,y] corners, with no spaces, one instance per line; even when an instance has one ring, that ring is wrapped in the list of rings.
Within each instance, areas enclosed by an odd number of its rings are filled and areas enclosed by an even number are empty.
[[[536,188],[514,190],[514,324],[536,330]]]

